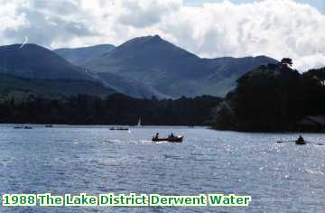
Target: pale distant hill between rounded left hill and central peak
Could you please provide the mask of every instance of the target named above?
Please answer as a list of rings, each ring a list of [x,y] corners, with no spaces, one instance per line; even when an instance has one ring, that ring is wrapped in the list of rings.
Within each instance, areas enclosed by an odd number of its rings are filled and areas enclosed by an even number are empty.
[[[62,48],[54,50],[54,52],[65,60],[68,60],[71,64],[81,65],[87,60],[97,58],[108,51],[112,51],[114,48],[115,46],[111,44],[100,44],[81,48]]]

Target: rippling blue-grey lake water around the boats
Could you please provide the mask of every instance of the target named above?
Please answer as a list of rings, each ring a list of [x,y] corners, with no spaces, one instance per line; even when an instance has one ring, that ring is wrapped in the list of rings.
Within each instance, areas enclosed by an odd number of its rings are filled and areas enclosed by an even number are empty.
[[[183,144],[152,143],[184,134]],[[325,143],[325,134],[303,134]],[[0,194],[86,192],[252,196],[248,208],[46,208],[50,212],[325,212],[325,146],[292,143],[298,134],[205,128],[0,127]],[[4,208],[1,211],[45,211]]]

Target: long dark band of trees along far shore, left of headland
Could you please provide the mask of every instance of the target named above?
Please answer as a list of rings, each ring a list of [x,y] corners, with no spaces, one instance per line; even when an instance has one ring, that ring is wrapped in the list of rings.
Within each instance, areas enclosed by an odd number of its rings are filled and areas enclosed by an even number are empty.
[[[0,103],[0,123],[64,125],[205,125],[218,97],[138,99],[114,94],[105,98],[78,95],[66,98],[30,96]]]

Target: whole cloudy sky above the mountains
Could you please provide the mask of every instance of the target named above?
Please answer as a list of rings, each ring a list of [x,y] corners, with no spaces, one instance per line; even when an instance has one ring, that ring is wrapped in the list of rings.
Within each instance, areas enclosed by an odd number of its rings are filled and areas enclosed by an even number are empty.
[[[200,57],[292,58],[301,71],[325,67],[324,0],[0,0],[0,45],[50,49],[139,36]]]

